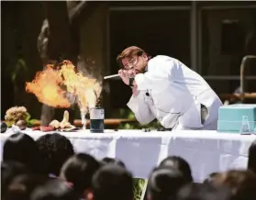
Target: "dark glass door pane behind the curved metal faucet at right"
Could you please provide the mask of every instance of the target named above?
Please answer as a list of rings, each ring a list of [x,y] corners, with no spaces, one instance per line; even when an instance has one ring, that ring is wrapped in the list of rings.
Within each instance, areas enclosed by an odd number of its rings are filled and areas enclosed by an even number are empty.
[[[217,94],[233,93],[239,87],[240,63],[248,53],[246,41],[256,28],[255,14],[256,6],[200,9],[199,73]],[[247,90],[256,92],[256,65],[246,69],[246,74]]]

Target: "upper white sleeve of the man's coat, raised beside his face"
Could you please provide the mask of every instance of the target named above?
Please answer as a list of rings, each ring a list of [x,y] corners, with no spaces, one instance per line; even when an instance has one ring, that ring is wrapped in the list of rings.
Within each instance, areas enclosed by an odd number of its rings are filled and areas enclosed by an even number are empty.
[[[173,71],[177,65],[178,62],[170,57],[153,58],[148,63],[149,72],[135,76],[138,90],[161,88],[165,83],[172,82]]]

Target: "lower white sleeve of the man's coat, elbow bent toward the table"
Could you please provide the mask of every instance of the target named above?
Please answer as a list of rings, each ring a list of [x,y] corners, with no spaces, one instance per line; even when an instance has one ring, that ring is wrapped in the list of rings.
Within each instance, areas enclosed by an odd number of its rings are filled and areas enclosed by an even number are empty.
[[[149,124],[155,118],[150,111],[150,107],[144,101],[143,93],[141,92],[137,96],[132,95],[130,97],[128,107],[134,113],[139,124]]]

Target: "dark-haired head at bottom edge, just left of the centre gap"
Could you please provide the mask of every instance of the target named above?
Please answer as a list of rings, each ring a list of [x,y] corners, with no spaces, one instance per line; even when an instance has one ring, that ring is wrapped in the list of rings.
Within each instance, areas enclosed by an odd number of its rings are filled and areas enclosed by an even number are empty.
[[[124,167],[106,164],[95,172],[92,189],[87,200],[132,200],[132,174]]]

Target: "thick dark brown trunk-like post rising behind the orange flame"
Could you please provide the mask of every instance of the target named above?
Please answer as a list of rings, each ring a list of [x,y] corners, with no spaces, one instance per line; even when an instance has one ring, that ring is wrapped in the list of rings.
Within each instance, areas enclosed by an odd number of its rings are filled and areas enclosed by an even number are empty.
[[[47,21],[39,35],[39,51],[44,65],[48,61],[70,60],[75,64],[77,53],[72,44],[72,29],[67,2],[44,2]],[[60,117],[63,115],[60,113]],[[54,116],[54,108],[43,105],[41,124],[49,125]]]

